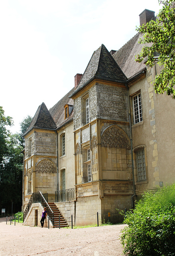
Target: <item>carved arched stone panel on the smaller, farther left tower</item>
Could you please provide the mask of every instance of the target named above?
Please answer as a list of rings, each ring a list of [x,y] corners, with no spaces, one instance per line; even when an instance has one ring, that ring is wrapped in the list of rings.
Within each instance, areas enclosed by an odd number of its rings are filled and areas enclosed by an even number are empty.
[[[43,172],[56,173],[57,167],[51,160],[49,160],[48,158],[44,158],[39,163],[37,163],[35,171],[41,172],[41,173]]]

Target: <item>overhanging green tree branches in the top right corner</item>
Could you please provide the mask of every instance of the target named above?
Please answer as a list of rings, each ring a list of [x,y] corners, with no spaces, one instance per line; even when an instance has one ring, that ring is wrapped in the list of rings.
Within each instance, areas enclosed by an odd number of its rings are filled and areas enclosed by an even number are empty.
[[[160,74],[154,80],[156,93],[171,95],[175,99],[175,10],[173,0],[158,0],[163,4],[156,21],[151,20],[137,30],[143,33],[140,39],[145,44],[142,52],[136,56],[137,62],[147,57],[147,64],[151,67],[158,62],[163,66]],[[150,44],[151,43],[151,46]],[[158,56],[156,60],[155,55]]]

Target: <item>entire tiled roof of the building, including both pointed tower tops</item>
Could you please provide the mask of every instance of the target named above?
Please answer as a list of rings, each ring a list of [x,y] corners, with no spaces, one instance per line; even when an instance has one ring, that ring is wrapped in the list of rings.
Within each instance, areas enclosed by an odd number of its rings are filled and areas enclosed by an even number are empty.
[[[71,96],[75,95],[81,88],[84,88],[94,78],[125,83],[130,78],[146,70],[144,61],[142,63],[135,61],[136,55],[141,52],[143,47],[142,44],[139,44],[140,37],[142,37],[142,34],[137,33],[112,55],[108,52],[104,44],[102,44],[92,54],[77,88],[73,88],[68,92],[49,111],[45,104],[42,103],[24,135],[34,127],[57,129],[73,120],[73,111],[66,120],[64,119],[64,106],[65,104],[73,105]]]

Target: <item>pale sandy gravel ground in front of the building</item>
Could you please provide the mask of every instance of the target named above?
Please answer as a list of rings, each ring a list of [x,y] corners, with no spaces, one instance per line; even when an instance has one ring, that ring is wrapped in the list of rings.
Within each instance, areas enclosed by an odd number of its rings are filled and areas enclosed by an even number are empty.
[[[0,256],[122,256],[124,224],[92,228],[40,228],[6,225],[0,219]]]

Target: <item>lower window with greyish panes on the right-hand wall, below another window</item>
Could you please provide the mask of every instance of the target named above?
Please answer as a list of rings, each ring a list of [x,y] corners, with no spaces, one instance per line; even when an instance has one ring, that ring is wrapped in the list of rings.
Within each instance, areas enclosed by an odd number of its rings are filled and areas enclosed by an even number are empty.
[[[139,150],[136,152],[138,181],[146,180],[146,164],[145,164],[145,150]]]

